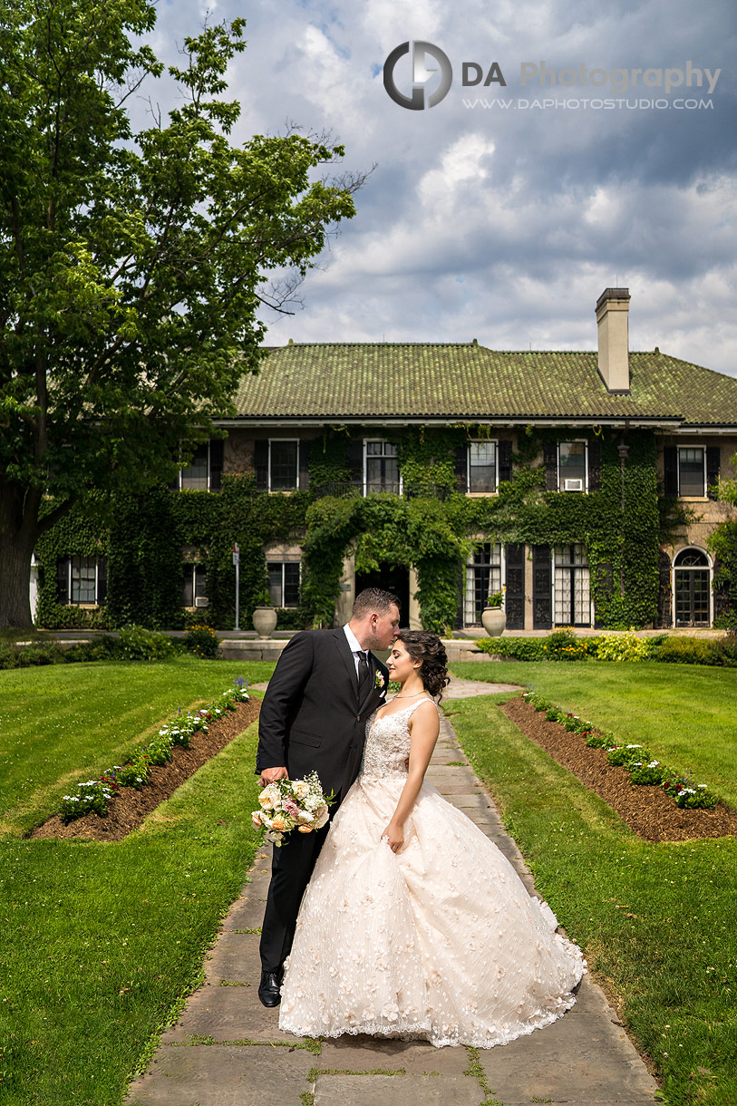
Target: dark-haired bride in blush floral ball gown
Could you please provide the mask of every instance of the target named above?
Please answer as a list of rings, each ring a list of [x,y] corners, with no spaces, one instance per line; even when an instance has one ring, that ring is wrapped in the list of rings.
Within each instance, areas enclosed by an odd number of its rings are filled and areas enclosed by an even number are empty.
[[[490,1048],[569,1010],[585,970],[497,846],[424,782],[448,682],[438,637],[401,630],[402,689],[367,722],[361,774],[302,899],[279,1027]]]

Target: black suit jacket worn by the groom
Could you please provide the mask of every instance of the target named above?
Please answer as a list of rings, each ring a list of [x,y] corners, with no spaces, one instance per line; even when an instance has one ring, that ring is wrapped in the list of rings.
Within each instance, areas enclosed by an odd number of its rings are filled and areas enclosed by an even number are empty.
[[[315,771],[325,793],[344,797],[361,769],[366,719],[384,702],[388,687],[386,666],[373,654],[369,662],[370,679],[359,702],[355,659],[345,632],[295,634],[263,697],[256,771],[283,764],[292,780]],[[376,687],[377,671],[382,688]]]

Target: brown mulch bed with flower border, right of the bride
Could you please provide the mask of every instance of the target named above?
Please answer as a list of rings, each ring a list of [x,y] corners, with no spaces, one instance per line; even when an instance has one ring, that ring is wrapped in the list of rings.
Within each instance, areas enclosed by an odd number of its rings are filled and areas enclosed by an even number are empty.
[[[712,811],[686,811],[662,787],[630,782],[625,769],[610,764],[603,749],[590,749],[583,738],[559,722],[549,722],[522,699],[509,699],[499,708],[532,741],[559,764],[569,769],[594,791],[623,822],[644,841],[692,841],[737,834],[737,812],[722,803]]]

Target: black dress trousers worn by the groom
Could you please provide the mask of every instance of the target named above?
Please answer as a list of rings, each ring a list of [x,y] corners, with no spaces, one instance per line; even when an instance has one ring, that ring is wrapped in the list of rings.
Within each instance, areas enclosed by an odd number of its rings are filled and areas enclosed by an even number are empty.
[[[331,810],[333,814],[335,807]],[[280,848],[273,846],[271,883],[261,927],[261,968],[278,971],[294,940],[297,915],[304,888],[328,836],[330,823],[313,833],[292,830]]]

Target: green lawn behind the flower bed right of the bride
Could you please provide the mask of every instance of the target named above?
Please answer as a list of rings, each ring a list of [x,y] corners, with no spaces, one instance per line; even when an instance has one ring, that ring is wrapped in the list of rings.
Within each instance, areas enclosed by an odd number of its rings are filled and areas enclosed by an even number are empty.
[[[589,660],[461,661],[451,670],[461,679],[532,684],[599,729],[694,772],[697,783],[737,807],[737,669]]]

